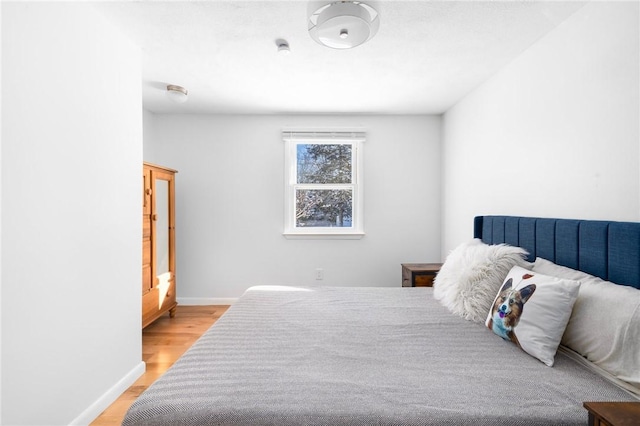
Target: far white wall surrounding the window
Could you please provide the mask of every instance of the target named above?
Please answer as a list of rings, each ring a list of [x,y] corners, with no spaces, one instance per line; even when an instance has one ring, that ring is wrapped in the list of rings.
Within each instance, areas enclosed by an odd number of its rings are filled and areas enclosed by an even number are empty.
[[[179,171],[182,303],[235,298],[258,284],[399,286],[400,263],[440,259],[439,117],[152,115],[152,121],[145,160]],[[359,126],[368,133],[366,236],[285,239],[282,129]],[[316,268],[324,269],[323,281],[315,280]]]

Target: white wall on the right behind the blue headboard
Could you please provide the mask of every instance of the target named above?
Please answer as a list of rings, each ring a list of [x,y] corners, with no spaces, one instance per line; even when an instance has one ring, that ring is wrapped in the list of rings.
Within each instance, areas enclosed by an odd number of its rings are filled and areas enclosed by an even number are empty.
[[[443,119],[443,255],[475,215],[640,219],[638,3],[589,3]]]

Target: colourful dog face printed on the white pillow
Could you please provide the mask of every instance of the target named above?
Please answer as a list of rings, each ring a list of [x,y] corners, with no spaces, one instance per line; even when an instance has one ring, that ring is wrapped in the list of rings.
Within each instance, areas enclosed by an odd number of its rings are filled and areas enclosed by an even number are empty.
[[[533,275],[525,274],[522,276],[522,281],[526,281],[531,277]],[[513,287],[513,279],[509,278],[502,285],[500,294],[493,304],[491,318],[487,322],[487,327],[503,339],[511,340],[520,346],[514,329],[520,321],[524,304],[527,303],[535,291],[535,284],[516,289]]]

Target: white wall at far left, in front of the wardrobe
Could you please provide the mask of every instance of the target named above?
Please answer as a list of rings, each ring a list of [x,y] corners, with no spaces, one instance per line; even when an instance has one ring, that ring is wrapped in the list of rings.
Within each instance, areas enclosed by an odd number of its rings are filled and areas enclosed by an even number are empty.
[[[77,3],[2,5],[2,419],[88,423],[141,362],[140,52]]]

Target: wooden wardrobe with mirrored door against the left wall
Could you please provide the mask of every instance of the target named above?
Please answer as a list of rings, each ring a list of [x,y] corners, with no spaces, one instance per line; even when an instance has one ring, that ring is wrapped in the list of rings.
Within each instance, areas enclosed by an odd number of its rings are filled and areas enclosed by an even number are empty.
[[[176,170],[143,163],[142,328],[176,313]]]

